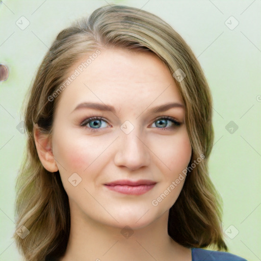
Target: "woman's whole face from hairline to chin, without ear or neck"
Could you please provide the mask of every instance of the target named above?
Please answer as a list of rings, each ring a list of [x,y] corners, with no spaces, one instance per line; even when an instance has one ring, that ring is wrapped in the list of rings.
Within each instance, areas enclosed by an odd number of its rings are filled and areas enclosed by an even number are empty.
[[[184,102],[163,62],[150,53],[102,49],[60,95],[52,147],[73,213],[132,228],[166,214],[185,179],[165,191],[192,149]]]

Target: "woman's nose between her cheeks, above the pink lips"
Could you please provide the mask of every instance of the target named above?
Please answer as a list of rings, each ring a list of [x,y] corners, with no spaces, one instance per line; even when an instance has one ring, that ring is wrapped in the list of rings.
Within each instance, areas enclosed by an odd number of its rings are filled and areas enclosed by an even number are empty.
[[[144,137],[140,135],[138,128],[134,128],[129,134],[122,132],[117,142],[114,159],[116,166],[136,170],[149,165],[150,150]]]

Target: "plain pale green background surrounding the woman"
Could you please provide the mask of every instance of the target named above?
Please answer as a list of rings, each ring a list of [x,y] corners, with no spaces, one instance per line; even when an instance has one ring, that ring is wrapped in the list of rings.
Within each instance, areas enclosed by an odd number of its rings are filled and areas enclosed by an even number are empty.
[[[15,178],[25,146],[16,126],[25,92],[60,30],[107,3],[159,15],[198,57],[214,99],[210,175],[224,201],[226,242],[231,253],[261,260],[261,1],[6,0],[0,4],[0,63],[10,72],[9,79],[0,82],[0,261],[21,260],[11,237]],[[30,21],[24,30],[16,25],[21,16]],[[233,30],[225,24],[230,16],[239,21]],[[232,26],[235,21],[227,22]],[[225,128],[230,121],[239,127],[233,134]],[[230,239],[236,229],[239,233]]]

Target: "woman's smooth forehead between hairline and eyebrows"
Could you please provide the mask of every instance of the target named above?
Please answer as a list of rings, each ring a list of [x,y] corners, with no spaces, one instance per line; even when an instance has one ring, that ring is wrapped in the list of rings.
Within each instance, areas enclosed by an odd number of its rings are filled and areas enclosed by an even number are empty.
[[[73,105],[85,101],[107,101],[117,108],[149,103],[182,102],[176,83],[167,66],[153,53],[119,48],[101,49],[100,54],[86,64],[88,54],[70,69],[68,77],[77,71],[75,79],[63,91],[62,100]],[[86,68],[83,68],[86,65]],[[79,69],[80,68],[80,69]]]

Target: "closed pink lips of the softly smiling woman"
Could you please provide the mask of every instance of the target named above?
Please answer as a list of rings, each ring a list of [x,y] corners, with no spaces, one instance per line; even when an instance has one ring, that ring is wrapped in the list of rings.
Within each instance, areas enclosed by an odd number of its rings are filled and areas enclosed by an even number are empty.
[[[106,188],[109,190],[122,193],[122,194],[128,194],[128,195],[142,195],[146,192],[150,191],[154,188],[156,185],[155,181],[152,180],[116,180],[113,182],[110,182],[108,184],[105,184]]]

